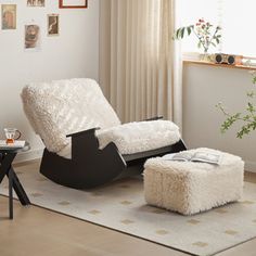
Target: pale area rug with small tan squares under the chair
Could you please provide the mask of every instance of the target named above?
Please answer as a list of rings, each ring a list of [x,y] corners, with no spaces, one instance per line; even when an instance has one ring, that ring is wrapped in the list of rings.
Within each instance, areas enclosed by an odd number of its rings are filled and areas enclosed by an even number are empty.
[[[30,201],[55,210],[191,255],[214,255],[256,236],[256,184],[245,182],[239,203],[194,216],[145,204],[142,179],[126,179],[90,191],[55,184],[38,167],[16,168]],[[75,172],[75,170],[74,170]],[[0,193],[8,194],[8,183]]]

